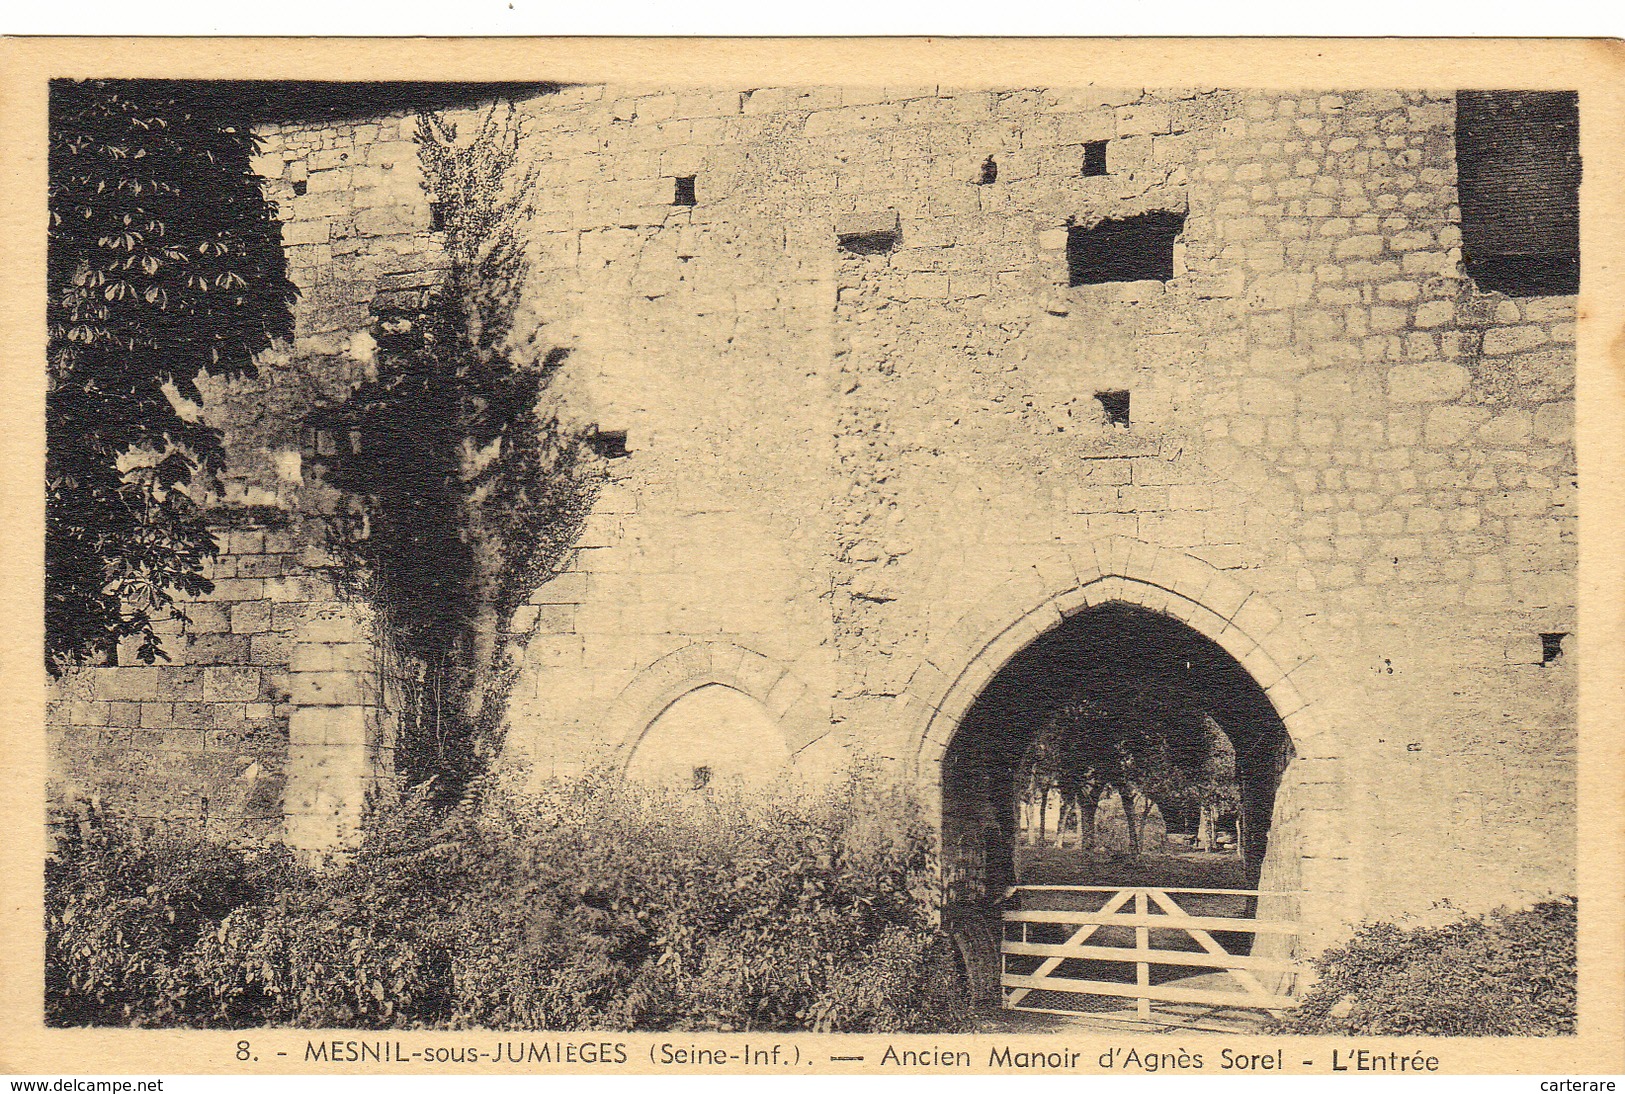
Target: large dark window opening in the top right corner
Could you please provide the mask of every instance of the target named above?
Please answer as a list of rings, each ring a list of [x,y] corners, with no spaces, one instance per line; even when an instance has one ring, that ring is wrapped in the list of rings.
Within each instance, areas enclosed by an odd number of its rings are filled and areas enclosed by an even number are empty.
[[[1461,255],[1480,289],[1580,291],[1580,98],[1458,91]]]

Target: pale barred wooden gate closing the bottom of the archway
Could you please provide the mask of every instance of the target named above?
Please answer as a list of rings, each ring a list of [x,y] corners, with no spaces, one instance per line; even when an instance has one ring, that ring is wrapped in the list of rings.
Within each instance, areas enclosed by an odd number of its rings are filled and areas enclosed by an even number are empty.
[[[1272,992],[1264,987],[1256,974],[1292,974],[1297,964],[1282,957],[1264,957],[1251,954],[1233,954],[1225,949],[1212,931],[1259,935],[1297,935],[1297,923],[1285,920],[1258,920],[1237,915],[1201,915],[1186,912],[1175,899],[1190,897],[1240,897],[1253,901],[1259,896],[1294,896],[1264,889],[1167,889],[1155,886],[1014,886],[1006,891],[1006,902],[1032,899],[1053,899],[1043,894],[1095,894],[1103,897],[1103,904],[1094,910],[1082,909],[1032,909],[1009,907],[1004,910],[1004,938],[1001,944],[1001,983],[1004,988],[1004,1006],[1017,1011],[1042,1013],[1090,1013],[1068,1009],[1066,1003],[1055,1006],[1035,1006],[1029,1003],[1034,992],[1058,992],[1063,996],[1118,996],[1134,1000],[1136,1016],[1141,1021],[1160,1021],[1152,1003],[1198,1005],[1212,1008],[1243,1008],[1280,1014],[1297,1006],[1290,995]],[[1045,941],[1030,938],[1030,928],[1064,925],[1076,930],[1064,941]],[[1011,938],[1019,927],[1019,938]],[[1124,928],[1134,931],[1133,946],[1089,944],[1098,931],[1107,928]],[[1152,931],[1176,931],[1181,941],[1194,941],[1198,949],[1159,948],[1152,944]],[[1185,941],[1185,944],[1190,944]],[[1025,966],[1032,957],[1040,957],[1037,967],[1012,969],[1014,964]],[[1087,969],[1084,975],[1061,975],[1066,962],[1103,962],[1107,966],[1133,966],[1134,982],[1090,979]],[[1191,969],[1193,975],[1201,970],[1216,969],[1227,972],[1240,990],[1224,992],[1209,987],[1176,987],[1170,983],[1152,983],[1152,967]],[[1097,974],[1098,975],[1098,974]],[[1170,1019],[1172,1021],[1172,1019]],[[1173,1022],[1186,1024],[1186,1022]]]

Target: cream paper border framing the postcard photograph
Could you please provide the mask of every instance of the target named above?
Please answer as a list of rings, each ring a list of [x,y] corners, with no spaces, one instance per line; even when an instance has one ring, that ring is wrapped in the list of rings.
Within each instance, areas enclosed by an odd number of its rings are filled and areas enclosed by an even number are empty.
[[[1586,634],[1580,707],[1578,840],[1581,938],[1581,1027],[1557,1039],[1360,1039],[1373,1052],[1422,1050],[1443,1073],[1625,1071],[1625,304],[1620,260],[1625,229],[1625,42],[1586,39],[6,39],[0,42],[0,343],[8,392],[8,428],[0,437],[6,519],[0,523],[0,597],[10,621],[0,640],[5,671],[5,745],[0,764],[8,793],[0,818],[10,832],[0,855],[5,876],[5,940],[0,941],[0,1070],[8,1073],[232,1073],[271,1074],[422,1071],[583,1071],[540,1068],[306,1065],[306,1031],[81,1031],[46,1029],[41,1016],[41,870],[44,855],[44,683],[41,663],[41,543],[44,455],[44,206],[46,81],[52,76],[169,76],[263,80],[556,80],[640,85],[873,85],[946,86],[1237,86],[1237,88],[1433,88],[1508,86],[1580,89],[1583,284],[1580,299],[1578,444],[1581,504],[1580,618]],[[239,1065],[234,1045],[250,1035],[260,1061]],[[408,1048],[450,1045],[507,1034],[377,1034]],[[697,1040],[694,1037],[692,1040]],[[540,1040],[540,1039],[538,1039]],[[570,1034],[564,1042],[622,1042],[627,1063],[616,1073],[717,1073],[717,1068],[655,1066],[650,1047],[686,1042],[676,1034]],[[876,1073],[887,1044],[899,1048],[951,1045],[985,1061],[1004,1035],[812,1035],[707,1034],[738,1050],[744,1040],[796,1048],[812,1073]],[[1098,1071],[1102,1050],[1144,1042],[1141,1034],[1045,1034],[1032,1047],[1079,1050],[1079,1071]],[[1162,1040],[1162,1039],[1157,1039]],[[1209,1060],[1220,1047],[1324,1058],[1331,1039],[1181,1035]],[[1053,1044],[1051,1044],[1053,1042]],[[275,1052],[284,1050],[278,1058]],[[1302,1050],[1302,1053],[1300,1053]],[[863,1055],[866,1063],[829,1061]],[[1211,1065],[1212,1066],[1212,1065]],[[728,1068],[769,1071],[769,1068]],[[988,1071],[983,1063],[973,1070]],[[1289,1061],[1289,1070],[1292,1068]],[[1318,1068],[1323,1070],[1323,1068]],[[770,1068],[772,1073],[782,1073]],[[1212,1073],[1209,1070],[1209,1073]]]

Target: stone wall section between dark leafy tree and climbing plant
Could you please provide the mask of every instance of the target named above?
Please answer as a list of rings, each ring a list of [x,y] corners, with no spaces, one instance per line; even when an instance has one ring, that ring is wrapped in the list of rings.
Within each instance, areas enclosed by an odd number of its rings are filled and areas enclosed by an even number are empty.
[[[54,684],[58,813],[98,801],[322,850],[356,831],[370,795],[393,792],[398,668],[325,549],[346,502],[320,467],[348,437],[317,424],[369,374],[377,297],[410,304],[437,276],[414,124],[263,128],[257,169],[301,291],[296,338],[262,354],[255,377],[200,384],[195,411],[229,452],[193,488],[221,546],[205,569],[214,590],[184,605],[187,623],[159,624],[171,662],[145,666],[125,649],[117,666]]]

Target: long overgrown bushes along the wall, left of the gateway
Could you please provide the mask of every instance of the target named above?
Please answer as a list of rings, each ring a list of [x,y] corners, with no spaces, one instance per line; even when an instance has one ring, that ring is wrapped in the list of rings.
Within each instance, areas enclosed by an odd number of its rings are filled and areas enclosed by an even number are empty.
[[[54,1024],[941,1031],[964,985],[907,795],[492,788],[330,870],[117,826],[50,875]],[[114,889],[127,892],[107,899]],[[158,892],[153,896],[136,896]],[[208,894],[184,896],[174,894]],[[72,907],[72,914],[63,914]],[[184,907],[167,918],[164,909]]]

